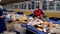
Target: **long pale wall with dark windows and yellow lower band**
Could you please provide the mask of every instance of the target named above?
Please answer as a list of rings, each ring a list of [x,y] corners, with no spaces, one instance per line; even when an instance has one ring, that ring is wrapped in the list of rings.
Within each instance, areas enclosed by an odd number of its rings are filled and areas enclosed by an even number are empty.
[[[33,4],[33,5],[30,7],[29,4]],[[47,15],[48,17],[60,18],[60,1],[57,0],[48,1],[48,2],[45,1],[43,2],[43,0],[25,1],[25,2],[7,4],[4,5],[3,7],[10,11],[13,10],[14,12],[24,12],[24,14],[29,15],[33,13],[34,9],[37,9],[38,5],[40,9],[42,9],[45,15]]]

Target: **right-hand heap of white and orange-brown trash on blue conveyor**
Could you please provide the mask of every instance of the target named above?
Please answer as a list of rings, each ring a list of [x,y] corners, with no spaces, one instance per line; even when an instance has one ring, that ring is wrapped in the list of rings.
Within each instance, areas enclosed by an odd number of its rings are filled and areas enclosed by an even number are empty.
[[[42,32],[60,33],[60,24],[54,24],[53,22],[43,21],[33,17],[28,18],[26,22],[27,25],[33,26]]]

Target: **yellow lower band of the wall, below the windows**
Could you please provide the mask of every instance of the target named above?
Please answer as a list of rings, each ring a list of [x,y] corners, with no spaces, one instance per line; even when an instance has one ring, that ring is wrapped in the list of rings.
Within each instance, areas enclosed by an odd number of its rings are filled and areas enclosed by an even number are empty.
[[[30,15],[33,13],[34,10],[13,10],[14,12],[23,12],[24,14]],[[60,18],[60,12],[59,11],[43,11],[44,14],[49,17],[57,17]]]

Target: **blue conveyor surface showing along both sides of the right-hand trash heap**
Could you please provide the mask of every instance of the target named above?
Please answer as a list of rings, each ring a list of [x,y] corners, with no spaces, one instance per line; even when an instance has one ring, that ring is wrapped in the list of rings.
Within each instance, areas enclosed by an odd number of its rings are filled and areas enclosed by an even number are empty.
[[[53,22],[55,24],[60,24],[60,22],[57,22],[57,21],[53,21],[53,20],[48,20],[49,22]],[[36,30],[36,28],[30,26],[30,25],[27,25],[27,24],[22,24],[23,27],[27,28],[28,30],[30,31],[33,31],[35,32],[36,34],[46,34],[45,32],[41,32],[39,30]]]

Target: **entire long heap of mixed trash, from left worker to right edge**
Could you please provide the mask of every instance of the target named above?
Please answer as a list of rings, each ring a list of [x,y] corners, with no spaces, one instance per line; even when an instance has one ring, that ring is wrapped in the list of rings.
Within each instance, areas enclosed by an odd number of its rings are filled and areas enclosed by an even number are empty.
[[[53,22],[48,22],[44,18],[38,19],[38,18],[33,18],[31,16],[27,18],[25,14],[21,14],[21,15],[20,14],[7,14],[6,21],[9,21],[8,19],[12,21],[14,29],[16,31],[20,31],[19,30],[19,28],[21,28],[20,24],[26,23],[27,25],[34,26],[37,30],[40,30],[42,32],[60,33],[59,24],[53,24]]]

